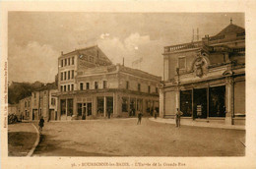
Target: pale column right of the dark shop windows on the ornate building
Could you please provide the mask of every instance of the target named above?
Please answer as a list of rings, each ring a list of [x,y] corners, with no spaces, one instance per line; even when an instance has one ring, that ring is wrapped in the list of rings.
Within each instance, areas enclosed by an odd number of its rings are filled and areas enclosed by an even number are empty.
[[[232,125],[232,97],[233,97],[233,79],[232,77],[227,77],[225,79],[225,124]]]

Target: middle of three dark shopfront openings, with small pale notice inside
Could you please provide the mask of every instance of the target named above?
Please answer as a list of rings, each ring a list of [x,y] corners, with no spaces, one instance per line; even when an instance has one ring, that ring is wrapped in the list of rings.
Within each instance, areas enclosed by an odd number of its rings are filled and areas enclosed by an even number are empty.
[[[194,89],[193,118],[207,118],[207,88]]]

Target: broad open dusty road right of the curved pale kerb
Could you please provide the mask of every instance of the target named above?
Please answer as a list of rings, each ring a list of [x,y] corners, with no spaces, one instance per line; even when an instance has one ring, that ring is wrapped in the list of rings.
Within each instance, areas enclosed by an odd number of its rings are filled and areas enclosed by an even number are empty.
[[[34,156],[243,156],[245,131],[143,118],[46,123]]]

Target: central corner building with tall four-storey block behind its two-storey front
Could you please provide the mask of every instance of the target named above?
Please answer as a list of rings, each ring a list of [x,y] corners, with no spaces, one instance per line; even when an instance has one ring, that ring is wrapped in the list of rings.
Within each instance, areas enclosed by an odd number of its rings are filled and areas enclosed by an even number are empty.
[[[160,77],[113,65],[97,47],[61,54],[58,119],[128,117],[159,109]],[[133,113],[132,113],[133,112]]]

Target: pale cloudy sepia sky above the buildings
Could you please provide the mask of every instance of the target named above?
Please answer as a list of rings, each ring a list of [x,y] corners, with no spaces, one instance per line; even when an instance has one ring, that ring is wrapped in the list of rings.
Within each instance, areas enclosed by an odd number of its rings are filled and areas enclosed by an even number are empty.
[[[162,77],[163,47],[215,35],[242,13],[9,12],[8,81],[54,82],[61,51],[98,45],[114,63]],[[140,63],[136,62],[141,60]]]

